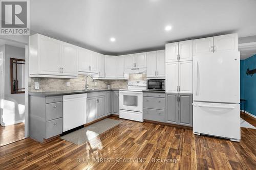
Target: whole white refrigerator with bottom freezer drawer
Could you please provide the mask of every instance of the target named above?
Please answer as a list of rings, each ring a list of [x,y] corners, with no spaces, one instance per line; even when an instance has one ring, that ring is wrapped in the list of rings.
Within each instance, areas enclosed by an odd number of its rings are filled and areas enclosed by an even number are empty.
[[[240,52],[193,58],[193,133],[240,140]]]

